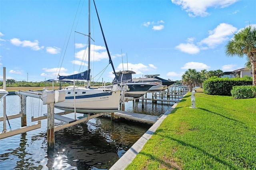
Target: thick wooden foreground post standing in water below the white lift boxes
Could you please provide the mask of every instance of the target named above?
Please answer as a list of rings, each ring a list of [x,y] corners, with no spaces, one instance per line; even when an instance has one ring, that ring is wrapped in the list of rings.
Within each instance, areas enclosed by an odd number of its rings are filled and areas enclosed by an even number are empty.
[[[54,103],[47,105],[47,147],[54,148]]]

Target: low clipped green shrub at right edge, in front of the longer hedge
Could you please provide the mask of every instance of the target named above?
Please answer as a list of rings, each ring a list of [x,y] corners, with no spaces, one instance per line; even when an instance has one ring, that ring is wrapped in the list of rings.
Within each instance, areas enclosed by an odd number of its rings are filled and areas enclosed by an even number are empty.
[[[254,98],[256,97],[256,86],[234,86],[231,94],[235,99]]]

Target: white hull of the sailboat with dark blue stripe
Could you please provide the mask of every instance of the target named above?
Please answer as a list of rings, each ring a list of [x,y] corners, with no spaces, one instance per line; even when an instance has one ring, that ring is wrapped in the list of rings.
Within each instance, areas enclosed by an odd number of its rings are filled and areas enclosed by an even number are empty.
[[[86,91],[85,88],[84,91]],[[94,91],[94,89],[87,89],[84,95],[77,93],[74,100],[74,93],[71,93],[70,89],[68,89],[66,90],[65,101],[55,103],[54,107],[72,112],[76,108],[76,113],[112,113],[118,111],[120,90],[104,92],[100,89],[95,89],[96,93],[90,93],[91,91]]]

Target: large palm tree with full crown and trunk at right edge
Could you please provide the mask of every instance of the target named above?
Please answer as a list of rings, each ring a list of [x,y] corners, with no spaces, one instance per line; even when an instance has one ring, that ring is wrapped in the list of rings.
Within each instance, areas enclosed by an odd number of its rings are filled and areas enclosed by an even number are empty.
[[[226,55],[244,57],[246,55],[252,64],[252,85],[256,86],[256,27],[248,26],[234,34],[226,45]]]

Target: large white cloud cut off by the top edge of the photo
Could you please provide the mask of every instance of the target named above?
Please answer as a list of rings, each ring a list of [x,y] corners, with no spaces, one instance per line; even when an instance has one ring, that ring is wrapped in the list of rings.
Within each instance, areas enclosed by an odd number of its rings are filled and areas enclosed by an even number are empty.
[[[234,4],[238,0],[172,0],[172,3],[181,6],[182,10],[186,10],[189,16],[208,16],[207,8],[225,8]]]

